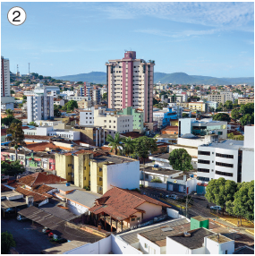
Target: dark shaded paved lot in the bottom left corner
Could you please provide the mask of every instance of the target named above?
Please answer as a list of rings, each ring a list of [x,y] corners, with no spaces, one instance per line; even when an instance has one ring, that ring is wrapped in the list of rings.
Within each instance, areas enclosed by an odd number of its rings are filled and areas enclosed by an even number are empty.
[[[40,251],[55,246],[41,230],[42,226],[32,226],[30,220],[21,222],[15,218],[1,219],[1,233],[8,231],[13,235],[15,249],[20,254],[40,254]]]

